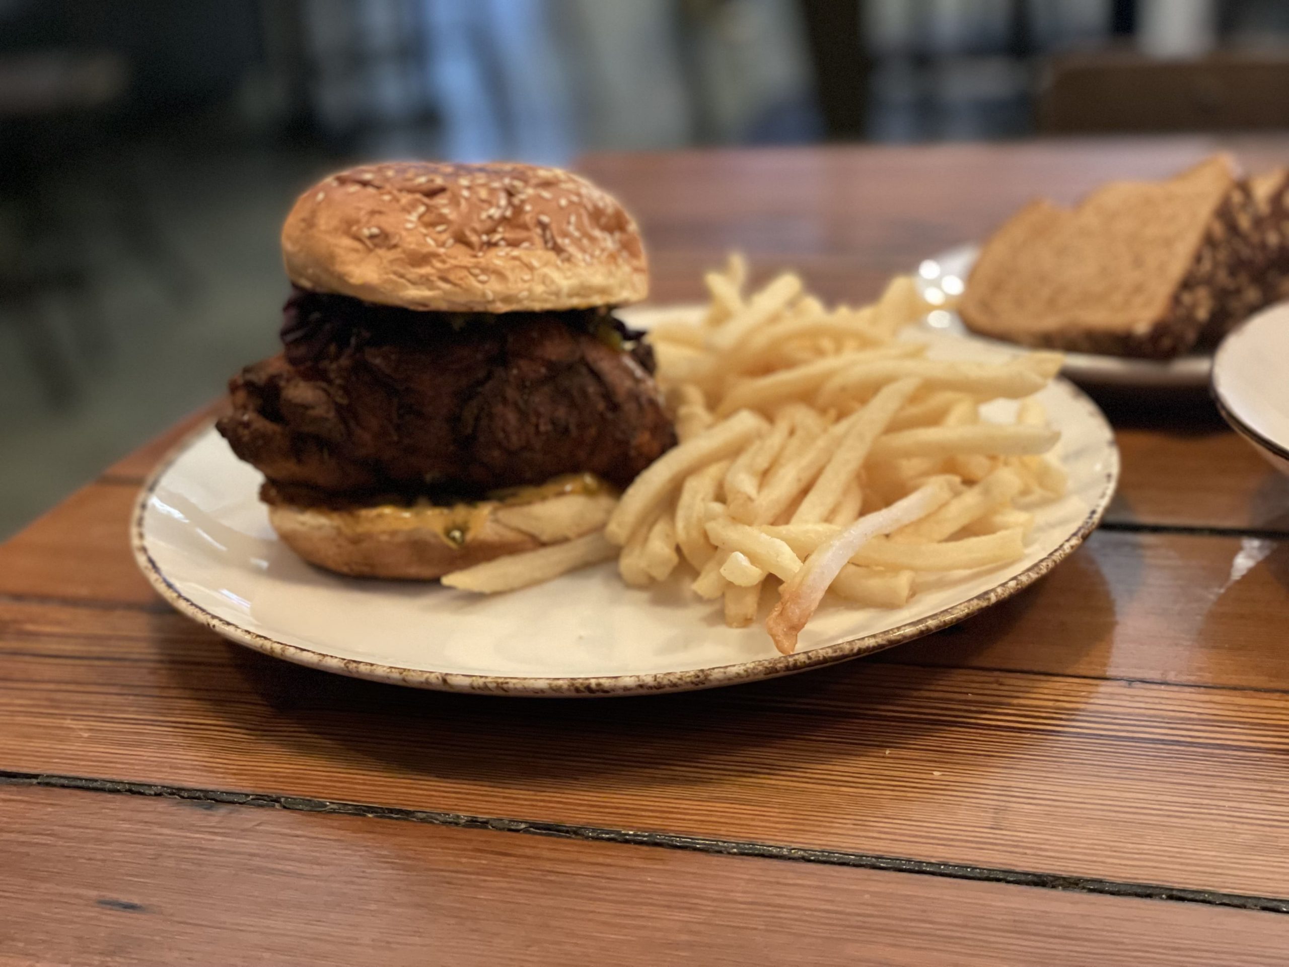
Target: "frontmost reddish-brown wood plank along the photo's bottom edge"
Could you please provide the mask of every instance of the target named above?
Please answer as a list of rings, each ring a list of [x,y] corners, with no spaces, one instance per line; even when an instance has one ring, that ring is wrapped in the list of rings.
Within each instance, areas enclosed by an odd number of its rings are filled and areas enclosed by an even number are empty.
[[[353,816],[0,786],[0,817],[15,967],[1249,967],[1289,944],[1272,913]]]

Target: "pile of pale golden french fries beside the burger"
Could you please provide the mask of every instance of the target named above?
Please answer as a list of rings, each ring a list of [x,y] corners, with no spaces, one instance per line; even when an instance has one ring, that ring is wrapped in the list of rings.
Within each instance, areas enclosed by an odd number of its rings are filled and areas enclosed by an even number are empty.
[[[1044,455],[1060,435],[1031,398],[1060,355],[927,358],[926,343],[895,338],[932,308],[907,276],[873,306],[829,309],[794,273],[750,295],[746,275],[731,257],[705,277],[701,318],[651,330],[679,444],[623,493],[603,530],[459,574],[513,574],[527,558],[531,584],[616,554],[633,587],[687,572],[730,627],[757,620],[773,581],[766,627],[789,654],[828,592],[902,607],[919,575],[1023,556],[1031,508],[1066,489]],[[1021,401],[1014,423],[981,418],[995,398]],[[456,578],[445,583],[477,584]]]

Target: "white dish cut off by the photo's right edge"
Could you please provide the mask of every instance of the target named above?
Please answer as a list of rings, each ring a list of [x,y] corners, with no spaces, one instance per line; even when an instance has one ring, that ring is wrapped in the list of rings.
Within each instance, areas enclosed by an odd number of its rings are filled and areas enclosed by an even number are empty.
[[[1289,303],[1250,316],[1222,340],[1213,400],[1240,436],[1289,474]]]

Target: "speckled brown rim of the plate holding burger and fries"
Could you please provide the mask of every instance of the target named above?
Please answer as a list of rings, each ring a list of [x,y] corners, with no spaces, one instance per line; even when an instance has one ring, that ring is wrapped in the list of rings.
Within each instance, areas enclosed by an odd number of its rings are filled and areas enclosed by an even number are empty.
[[[1105,446],[1109,459],[1109,468],[1105,471],[1105,481],[1097,500],[1083,518],[1078,529],[1056,547],[1045,557],[1035,561],[1026,570],[1002,581],[1000,584],[981,592],[980,594],[962,601],[950,607],[926,615],[914,621],[888,628],[883,632],[851,638],[835,645],[799,651],[794,655],[779,655],[775,658],[758,659],[755,661],[741,661],[731,665],[713,665],[710,668],[697,668],[683,672],[657,672],[654,674],[626,674],[626,676],[586,676],[586,677],[528,677],[528,676],[487,676],[465,674],[458,672],[432,672],[414,668],[398,668],[392,665],[362,661],[358,659],[338,658],[326,652],[315,651],[299,645],[290,645],[277,641],[258,632],[246,630],[232,621],[211,614],[199,603],[186,597],[161,572],[156,561],[147,548],[147,539],[143,532],[143,518],[148,502],[157,485],[165,477],[170,467],[187,450],[197,442],[209,429],[214,420],[205,422],[180,440],[148,474],[134,503],[130,516],[130,547],[134,560],[143,571],[143,576],[156,589],[156,592],[179,614],[191,618],[193,621],[210,628],[224,638],[249,649],[260,651],[273,658],[293,661],[298,665],[316,668],[324,672],[349,676],[352,678],[366,678],[374,682],[388,682],[392,685],[406,685],[414,689],[429,689],[433,691],[467,692],[476,695],[513,695],[532,698],[575,698],[575,696],[610,696],[610,695],[659,695],[677,691],[696,691],[700,689],[715,689],[726,685],[739,685],[754,682],[764,678],[779,678],[786,674],[795,674],[811,668],[822,668],[840,661],[848,661],[875,651],[902,645],[906,641],[920,638],[924,634],[938,632],[951,624],[956,624],[965,618],[971,618],[986,607],[1011,597],[1027,588],[1039,578],[1045,575],[1097,527],[1101,518],[1114,498],[1115,487],[1119,482],[1119,446],[1115,442],[1105,414],[1097,405],[1078,387],[1069,380],[1060,379],[1080,404],[1090,419],[1093,419],[1105,435]]]

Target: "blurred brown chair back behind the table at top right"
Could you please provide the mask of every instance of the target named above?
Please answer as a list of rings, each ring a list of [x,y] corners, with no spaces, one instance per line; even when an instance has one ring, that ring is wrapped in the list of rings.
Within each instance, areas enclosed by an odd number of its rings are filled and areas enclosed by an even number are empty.
[[[1036,113],[1045,134],[1286,128],[1289,54],[1065,55],[1047,67]]]

